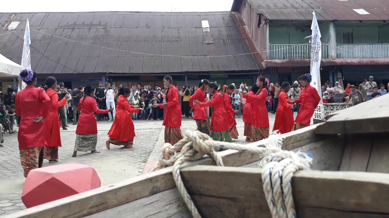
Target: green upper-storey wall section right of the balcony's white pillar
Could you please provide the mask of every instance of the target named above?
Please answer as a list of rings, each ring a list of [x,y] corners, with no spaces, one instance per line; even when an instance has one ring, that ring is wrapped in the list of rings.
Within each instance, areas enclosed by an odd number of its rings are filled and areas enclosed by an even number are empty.
[[[336,27],[336,43],[344,44],[343,33],[353,33],[354,44],[389,43],[388,26]]]

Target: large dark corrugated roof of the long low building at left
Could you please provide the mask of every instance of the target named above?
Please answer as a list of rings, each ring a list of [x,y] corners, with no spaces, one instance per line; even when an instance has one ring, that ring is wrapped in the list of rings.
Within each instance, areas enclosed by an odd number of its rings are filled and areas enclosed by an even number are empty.
[[[32,46],[66,66],[50,61],[32,49],[32,69],[37,73],[177,73],[263,69],[261,56],[249,54],[258,50],[238,12],[3,13],[0,14],[0,23],[21,21],[16,29],[22,30],[14,34],[23,39],[27,18],[31,29],[65,38],[31,30]],[[205,43],[202,20],[209,21],[207,42],[213,44]],[[20,62],[23,41],[12,33],[2,35],[4,33],[9,31],[0,28],[0,53]],[[237,56],[184,58],[159,55]]]

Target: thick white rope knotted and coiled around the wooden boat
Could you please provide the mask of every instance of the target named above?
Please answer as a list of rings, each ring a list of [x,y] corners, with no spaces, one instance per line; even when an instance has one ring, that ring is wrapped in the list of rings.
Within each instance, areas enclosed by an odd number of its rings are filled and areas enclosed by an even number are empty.
[[[292,196],[292,177],[298,170],[309,170],[312,158],[300,151],[283,151],[280,134],[273,133],[266,140],[265,147],[241,145],[214,141],[209,135],[199,131],[186,130],[184,138],[175,145],[165,143],[159,155],[155,171],[173,165],[173,178],[185,204],[194,218],[201,218],[191,197],[184,187],[180,176],[180,167],[187,161],[195,161],[205,154],[211,156],[217,166],[223,166],[223,160],[214,151],[216,148],[251,152],[262,157],[262,185],[272,218],[296,218]],[[181,152],[177,153],[180,149]]]

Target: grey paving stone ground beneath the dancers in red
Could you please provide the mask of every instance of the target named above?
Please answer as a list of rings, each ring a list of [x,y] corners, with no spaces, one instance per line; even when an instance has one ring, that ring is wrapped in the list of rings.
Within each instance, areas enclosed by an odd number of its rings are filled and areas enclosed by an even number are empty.
[[[294,115],[297,114],[294,113]],[[275,115],[269,114],[270,130],[273,129],[274,119]],[[136,137],[133,149],[123,149],[123,146],[111,144],[110,150],[108,150],[105,147],[105,140],[108,139],[107,133],[112,122],[98,121],[96,149],[101,153],[78,152],[77,157],[72,157],[76,126],[69,123],[68,130],[61,129],[62,147],[59,149],[59,162],[49,164],[45,160],[44,167],[64,163],[87,164],[95,168],[102,180],[102,186],[141,175],[163,126],[162,121],[137,120],[134,121],[134,124]],[[184,133],[188,129],[195,130],[196,123],[192,119],[182,119],[182,132]],[[247,144],[248,142],[245,142],[243,136],[244,123],[242,118],[237,118],[237,129],[239,137],[234,142]],[[0,148],[0,183],[2,184],[0,187],[0,217],[25,209],[20,199],[24,182],[17,134],[5,134],[4,147]]]

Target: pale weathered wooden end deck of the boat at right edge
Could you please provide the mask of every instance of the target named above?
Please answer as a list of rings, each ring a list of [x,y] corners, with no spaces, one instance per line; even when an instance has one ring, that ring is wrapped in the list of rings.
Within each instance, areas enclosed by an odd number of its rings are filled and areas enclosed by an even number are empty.
[[[387,123],[389,123],[389,95],[384,95],[338,112],[323,125],[318,126],[315,132],[317,134],[389,132]]]

